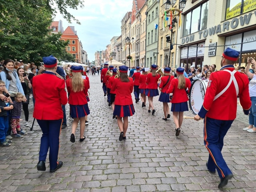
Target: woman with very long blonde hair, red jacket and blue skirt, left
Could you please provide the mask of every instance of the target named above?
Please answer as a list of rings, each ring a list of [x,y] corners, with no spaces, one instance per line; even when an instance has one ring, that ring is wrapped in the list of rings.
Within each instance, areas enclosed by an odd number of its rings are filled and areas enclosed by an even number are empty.
[[[82,78],[81,67],[72,66],[72,78],[66,80],[69,93],[70,116],[74,119],[72,123],[72,134],[70,141],[75,142],[75,131],[80,120],[80,142],[84,141],[85,116],[90,114],[86,99],[88,82]]]

